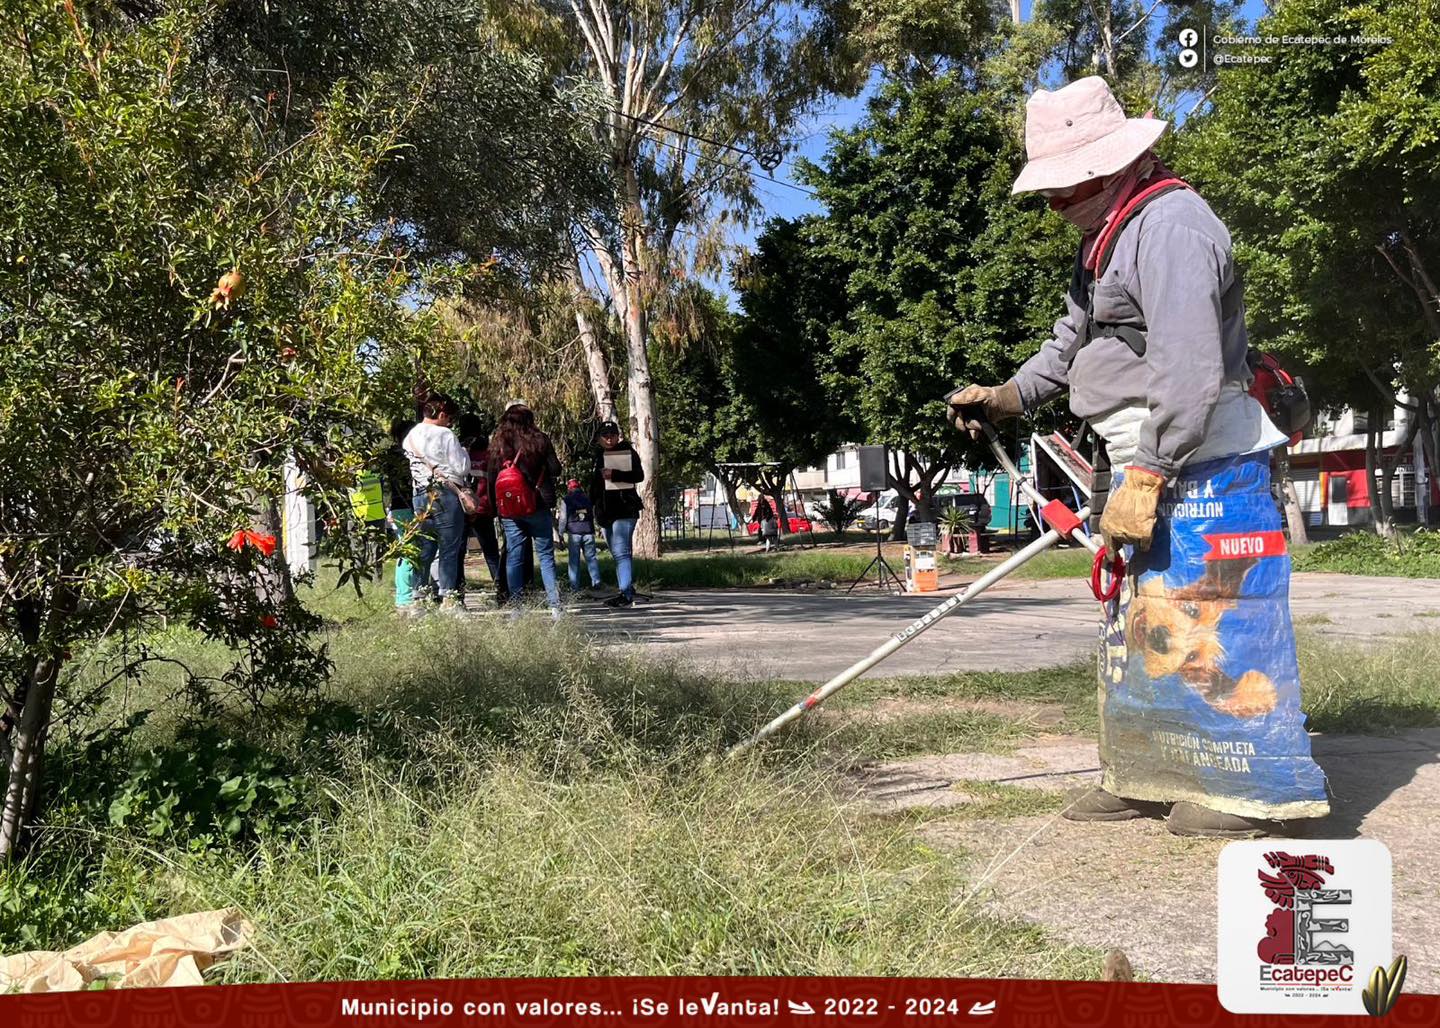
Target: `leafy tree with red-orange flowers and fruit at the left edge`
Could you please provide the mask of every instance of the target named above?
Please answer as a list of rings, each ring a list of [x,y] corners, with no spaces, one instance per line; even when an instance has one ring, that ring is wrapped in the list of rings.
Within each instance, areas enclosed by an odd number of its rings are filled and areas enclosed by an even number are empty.
[[[36,813],[72,645],[190,623],[238,654],[192,680],[202,703],[325,672],[317,621],[266,585],[256,518],[287,456],[344,502],[374,442],[372,369],[433,330],[370,203],[409,108],[337,85],[291,138],[274,104],[207,88],[213,17],[6,9],[0,855]]]

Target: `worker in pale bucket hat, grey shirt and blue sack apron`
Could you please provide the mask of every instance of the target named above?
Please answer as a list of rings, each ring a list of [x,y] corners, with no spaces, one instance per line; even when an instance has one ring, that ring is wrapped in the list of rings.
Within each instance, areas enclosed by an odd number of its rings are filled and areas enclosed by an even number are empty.
[[[1096,475],[1092,504],[1106,547],[1133,547],[1102,632],[1104,775],[1064,815],[1125,821],[1164,803],[1176,834],[1247,838],[1329,805],[1269,495],[1284,435],[1247,393],[1230,233],[1151,150],[1165,128],[1126,118],[1097,76],[1030,98],[1014,191],[1083,232],[1066,314],[1012,379],[946,400],[978,435],[976,412],[1001,420],[1068,393],[1116,468],[1107,500],[1109,474]]]

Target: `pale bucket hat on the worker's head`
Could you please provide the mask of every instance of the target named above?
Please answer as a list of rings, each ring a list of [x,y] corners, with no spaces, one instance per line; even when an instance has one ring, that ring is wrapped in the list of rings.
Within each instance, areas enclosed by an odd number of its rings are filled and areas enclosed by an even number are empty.
[[[1115,174],[1164,135],[1168,121],[1126,118],[1099,75],[1025,101],[1025,155],[1011,193],[1066,189]]]

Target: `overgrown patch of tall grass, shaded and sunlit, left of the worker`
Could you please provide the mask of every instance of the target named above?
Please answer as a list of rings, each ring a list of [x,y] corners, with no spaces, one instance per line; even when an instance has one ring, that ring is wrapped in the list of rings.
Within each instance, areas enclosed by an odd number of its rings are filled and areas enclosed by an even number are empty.
[[[209,659],[183,634],[157,644]],[[62,740],[72,773],[43,847],[0,870],[0,947],[239,906],[258,937],[230,980],[1097,968],[960,901],[956,864],[912,825],[834,795],[815,726],[714,759],[789,703],[782,687],[539,621],[351,610],[331,648],[318,703],[204,726],[288,769],[300,801],[278,828],[108,824],[145,753],[179,750],[204,780],[213,756],[183,718],[157,718],[111,763],[82,760],[95,726]]]

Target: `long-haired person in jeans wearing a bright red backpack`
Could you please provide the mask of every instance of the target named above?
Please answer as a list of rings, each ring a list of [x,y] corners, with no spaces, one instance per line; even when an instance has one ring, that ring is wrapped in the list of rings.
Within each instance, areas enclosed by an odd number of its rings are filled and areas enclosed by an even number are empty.
[[[511,602],[518,602],[524,585],[524,543],[540,556],[550,613],[560,616],[560,590],[554,576],[556,484],[560,458],[550,436],[536,428],[536,416],[524,400],[511,400],[487,451],[488,488],[500,526],[505,533],[505,579]]]

